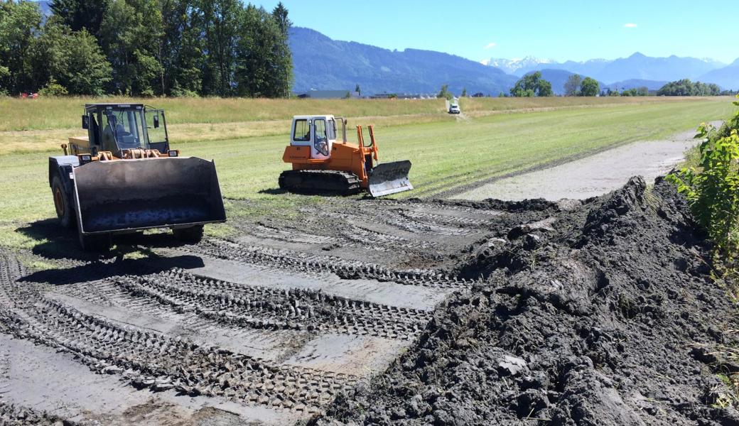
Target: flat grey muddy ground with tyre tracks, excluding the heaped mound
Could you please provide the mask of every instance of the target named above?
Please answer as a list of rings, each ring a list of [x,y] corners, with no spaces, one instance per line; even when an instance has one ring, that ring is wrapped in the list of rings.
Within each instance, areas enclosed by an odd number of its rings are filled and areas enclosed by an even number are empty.
[[[238,236],[196,246],[123,238],[154,247],[128,259],[53,258],[74,236],[31,224],[52,241],[21,255],[57,267],[0,252],[0,419],[18,407],[119,425],[305,419],[474,285],[450,272],[457,253],[539,217],[347,199],[293,213],[232,221]]]

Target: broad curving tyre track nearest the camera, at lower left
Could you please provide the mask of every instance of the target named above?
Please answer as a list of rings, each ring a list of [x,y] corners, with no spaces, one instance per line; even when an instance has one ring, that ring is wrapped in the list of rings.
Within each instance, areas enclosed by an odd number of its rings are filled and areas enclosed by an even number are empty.
[[[217,347],[118,326],[61,303],[39,299],[12,313],[13,334],[75,354],[94,371],[132,385],[183,394],[223,396],[274,408],[315,411],[356,377],[279,365]]]

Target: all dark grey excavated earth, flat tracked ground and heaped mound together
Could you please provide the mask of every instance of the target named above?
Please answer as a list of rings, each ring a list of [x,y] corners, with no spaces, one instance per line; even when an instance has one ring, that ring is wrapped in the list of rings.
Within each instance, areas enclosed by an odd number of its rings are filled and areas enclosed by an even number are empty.
[[[0,425],[739,424],[735,306],[665,182],[230,223],[101,255],[19,229],[48,242],[0,250]]]

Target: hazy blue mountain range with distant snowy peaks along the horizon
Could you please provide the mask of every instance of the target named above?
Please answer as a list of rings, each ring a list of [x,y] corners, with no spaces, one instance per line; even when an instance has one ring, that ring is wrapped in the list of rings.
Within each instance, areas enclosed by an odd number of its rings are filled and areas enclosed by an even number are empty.
[[[614,60],[557,62],[551,59],[491,58],[470,61],[456,55],[419,49],[382,49],[353,41],[336,41],[315,30],[290,28],[290,49],[295,73],[294,92],[353,90],[359,84],[364,94],[382,92],[438,92],[449,84],[452,93],[463,88],[472,94],[507,93],[528,72],[541,71],[558,95],[573,74],[599,80],[603,89],[659,89],[668,81],[689,78],[716,83],[723,89],[739,89],[739,59],[726,65],[711,59],[675,55],[653,58],[639,52]]]

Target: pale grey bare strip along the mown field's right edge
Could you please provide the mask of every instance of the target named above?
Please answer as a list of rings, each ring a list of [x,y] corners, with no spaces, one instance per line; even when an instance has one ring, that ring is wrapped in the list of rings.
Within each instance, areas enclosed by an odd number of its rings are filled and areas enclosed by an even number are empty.
[[[691,130],[670,140],[633,142],[554,167],[495,179],[451,198],[556,201],[600,196],[620,188],[631,176],[641,175],[653,182],[666,174],[681,162],[687,149],[696,145],[694,135]]]

